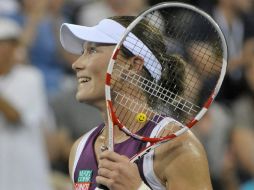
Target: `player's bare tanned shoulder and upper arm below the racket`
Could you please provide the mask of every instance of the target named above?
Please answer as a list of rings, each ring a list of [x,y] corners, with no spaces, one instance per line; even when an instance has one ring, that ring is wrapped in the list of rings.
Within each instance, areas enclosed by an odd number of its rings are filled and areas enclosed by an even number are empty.
[[[157,148],[154,170],[167,189],[212,189],[206,152],[191,131]]]

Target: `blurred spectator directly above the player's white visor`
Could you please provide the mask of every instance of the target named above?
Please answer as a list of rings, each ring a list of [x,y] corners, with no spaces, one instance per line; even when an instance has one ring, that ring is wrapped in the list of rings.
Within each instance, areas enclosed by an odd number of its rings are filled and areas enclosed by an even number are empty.
[[[147,0],[96,0],[85,4],[77,14],[80,25],[93,26],[115,15],[137,15],[148,6]]]

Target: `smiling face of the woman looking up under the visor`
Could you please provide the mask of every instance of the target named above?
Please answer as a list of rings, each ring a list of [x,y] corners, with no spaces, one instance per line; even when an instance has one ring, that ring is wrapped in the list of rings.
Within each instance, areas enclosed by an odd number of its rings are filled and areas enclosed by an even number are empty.
[[[76,99],[97,108],[105,107],[105,77],[115,45],[87,42],[83,54],[73,63],[78,89]]]

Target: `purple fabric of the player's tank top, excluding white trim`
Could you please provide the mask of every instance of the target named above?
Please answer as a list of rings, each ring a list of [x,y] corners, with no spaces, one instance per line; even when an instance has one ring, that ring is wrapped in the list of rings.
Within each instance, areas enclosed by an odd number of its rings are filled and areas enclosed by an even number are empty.
[[[140,131],[139,135],[150,136],[154,123],[148,122]],[[96,188],[96,176],[98,163],[94,151],[94,143],[103,129],[104,124],[99,125],[88,137],[86,144],[81,152],[77,166],[74,172],[75,189],[77,190],[94,190]],[[134,156],[146,146],[145,142],[129,138],[124,142],[115,144],[114,151],[118,154],[125,155],[129,158]],[[142,180],[147,184],[143,173],[143,159],[137,162],[138,169]],[[147,184],[148,185],[148,184]]]

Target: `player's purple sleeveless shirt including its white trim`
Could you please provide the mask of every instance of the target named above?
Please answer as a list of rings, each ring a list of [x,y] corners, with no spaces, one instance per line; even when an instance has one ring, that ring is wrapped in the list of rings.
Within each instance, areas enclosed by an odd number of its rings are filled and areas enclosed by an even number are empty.
[[[164,127],[160,125],[160,123],[163,123],[163,120],[157,125],[149,121],[137,134],[154,136]],[[94,144],[103,128],[104,124],[101,124],[89,131],[82,137],[77,147],[71,176],[76,190],[94,190],[96,188],[95,178],[97,176],[98,163],[95,156]],[[128,138],[121,143],[115,144],[114,151],[131,158],[146,146],[146,142]],[[163,190],[165,187],[162,186],[153,171],[153,155],[154,151],[151,150],[136,163],[142,180],[153,190]]]

